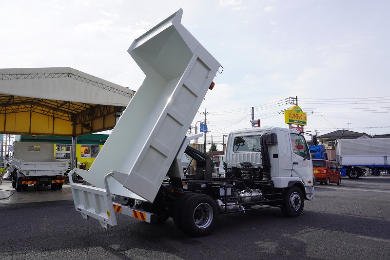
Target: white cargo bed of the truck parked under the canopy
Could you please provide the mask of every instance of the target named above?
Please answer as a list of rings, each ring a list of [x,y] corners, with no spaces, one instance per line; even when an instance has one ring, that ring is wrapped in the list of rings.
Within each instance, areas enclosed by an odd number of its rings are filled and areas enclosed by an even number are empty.
[[[12,167],[24,176],[63,175],[68,161],[54,159],[53,143],[15,142]]]

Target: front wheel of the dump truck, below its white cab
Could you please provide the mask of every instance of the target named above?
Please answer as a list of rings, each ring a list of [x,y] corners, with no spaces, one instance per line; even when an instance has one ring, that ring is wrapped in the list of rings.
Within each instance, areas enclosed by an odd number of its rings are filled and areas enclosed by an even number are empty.
[[[303,210],[305,199],[300,188],[292,186],[286,189],[283,195],[283,205],[280,207],[283,214],[287,217],[298,217]]]

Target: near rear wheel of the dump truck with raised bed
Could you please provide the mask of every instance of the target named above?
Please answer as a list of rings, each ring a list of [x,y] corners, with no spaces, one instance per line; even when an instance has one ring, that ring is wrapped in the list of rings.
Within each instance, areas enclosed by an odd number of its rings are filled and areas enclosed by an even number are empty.
[[[196,237],[209,235],[218,222],[215,200],[206,194],[191,196],[183,203],[181,221],[188,234]]]

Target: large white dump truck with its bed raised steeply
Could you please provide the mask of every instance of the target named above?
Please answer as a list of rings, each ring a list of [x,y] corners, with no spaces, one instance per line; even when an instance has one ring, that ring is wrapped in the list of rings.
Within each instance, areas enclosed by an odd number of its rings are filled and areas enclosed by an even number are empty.
[[[181,16],[180,9],[130,46],[146,78],[89,171],[70,172],[92,184],[69,178],[75,209],[107,229],[117,225],[118,213],[151,223],[173,218],[193,236],[210,234],[219,214],[280,207],[299,216],[313,198],[313,178],[307,143],[297,131],[231,133],[224,178],[213,178],[212,159],[188,146],[202,135],[186,133],[220,64],[180,24]],[[184,153],[195,160],[193,176],[184,176]]]

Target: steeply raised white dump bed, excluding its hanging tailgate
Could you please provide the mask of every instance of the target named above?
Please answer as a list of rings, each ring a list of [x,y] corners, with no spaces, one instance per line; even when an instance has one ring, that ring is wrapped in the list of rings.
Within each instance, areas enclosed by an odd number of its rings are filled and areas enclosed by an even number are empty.
[[[182,10],[136,39],[128,52],[146,78],[84,180],[113,194],[153,201],[220,66],[180,24]],[[184,152],[184,150],[183,150]],[[178,164],[181,166],[181,163]],[[182,167],[178,167],[183,176]]]

